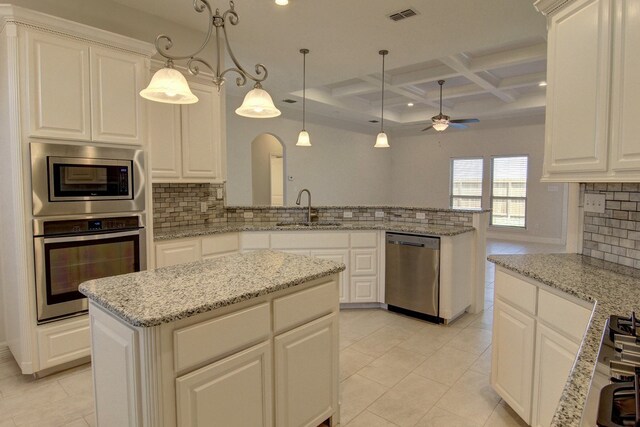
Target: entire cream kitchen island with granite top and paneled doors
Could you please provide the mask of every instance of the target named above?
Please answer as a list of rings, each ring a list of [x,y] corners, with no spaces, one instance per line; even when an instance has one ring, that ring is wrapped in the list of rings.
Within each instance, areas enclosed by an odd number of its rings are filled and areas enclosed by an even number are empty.
[[[344,268],[256,251],[83,283],[98,425],[338,424]]]

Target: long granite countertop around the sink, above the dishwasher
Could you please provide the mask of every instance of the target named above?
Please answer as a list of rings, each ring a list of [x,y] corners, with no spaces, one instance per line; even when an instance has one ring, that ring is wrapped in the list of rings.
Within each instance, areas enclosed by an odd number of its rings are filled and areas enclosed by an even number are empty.
[[[217,224],[200,225],[192,227],[171,227],[167,229],[156,228],[153,230],[153,239],[156,242],[162,240],[182,239],[186,237],[208,236],[219,233],[237,231],[310,231],[310,230],[385,230],[404,233],[428,234],[433,236],[455,236],[475,230],[474,227],[446,226],[417,224],[394,221],[352,221],[332,222],[333,225],[277,225],[275,222],[234,223],[223,222]]]

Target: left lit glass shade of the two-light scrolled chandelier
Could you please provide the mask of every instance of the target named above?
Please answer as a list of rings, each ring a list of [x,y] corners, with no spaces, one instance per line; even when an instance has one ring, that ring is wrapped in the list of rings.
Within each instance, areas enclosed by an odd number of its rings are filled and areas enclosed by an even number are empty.
[[[166,104],[194,104],[198,102],[187,79],[174,68],[162,68],[153,75],[149,86],[140,91],[140,96]]]

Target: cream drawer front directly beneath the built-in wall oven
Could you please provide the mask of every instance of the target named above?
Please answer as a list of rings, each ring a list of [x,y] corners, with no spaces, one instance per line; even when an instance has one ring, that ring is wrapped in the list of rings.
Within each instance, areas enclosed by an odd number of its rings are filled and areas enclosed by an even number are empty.
[[[91,354],[89,317],[38,326],[40,369],[60,365]]]

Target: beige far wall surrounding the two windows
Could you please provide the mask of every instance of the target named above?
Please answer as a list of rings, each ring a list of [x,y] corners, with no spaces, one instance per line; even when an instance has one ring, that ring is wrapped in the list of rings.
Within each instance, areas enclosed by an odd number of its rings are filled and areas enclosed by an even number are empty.
[[[544,124],[491,129],[468,129],[396,137],[391,149],[391,203],[406,206],[449,207],[452,157],[484,157],[483,207],[490,208],[491,157],[529,156],[527,230],[491,228],[489,234],[510,234],[532,241],[562,239],[564,184],[540,182]],[[505,236],[508,237],[508,236]]]

